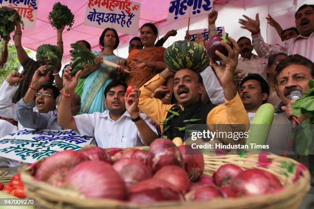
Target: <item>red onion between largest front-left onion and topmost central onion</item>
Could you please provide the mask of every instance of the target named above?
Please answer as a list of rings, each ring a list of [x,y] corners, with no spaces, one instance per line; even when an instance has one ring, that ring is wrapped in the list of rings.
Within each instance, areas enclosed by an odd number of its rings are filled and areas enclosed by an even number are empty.
[[[134,183],[151,178],[146,164],[133,158],[122,158],[113,164],[113,169],[120,175],[129,188]]]

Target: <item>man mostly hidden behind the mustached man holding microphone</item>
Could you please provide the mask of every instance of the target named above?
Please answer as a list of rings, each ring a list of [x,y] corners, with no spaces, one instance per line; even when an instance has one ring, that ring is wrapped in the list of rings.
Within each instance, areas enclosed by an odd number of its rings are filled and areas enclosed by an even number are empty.
[[[272,54],[268,59],[267,64],[267,77],[268,77],[268,86],[269,86],[269,95],[267,97],[267,103],[271,103],[273,107],[275,108],[276,113],[281,112],[281,106],[283,105],[281,99],[277,95],[276,92],[276,84],[274,82],[274,76],[276,67],[279,64],[279,62],[285,58],[287,58],[287,54],[280,52],[277,54]]]

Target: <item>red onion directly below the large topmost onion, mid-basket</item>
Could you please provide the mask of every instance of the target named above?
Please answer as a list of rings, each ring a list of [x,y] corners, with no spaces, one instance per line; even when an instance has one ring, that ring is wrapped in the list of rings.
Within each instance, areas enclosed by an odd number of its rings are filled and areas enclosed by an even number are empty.
[[[153,178],[158,178],[171,183],[182,194],[185,194],[190,189],[189,177],[185,171],[176,165],[168,165],[155,173]]]

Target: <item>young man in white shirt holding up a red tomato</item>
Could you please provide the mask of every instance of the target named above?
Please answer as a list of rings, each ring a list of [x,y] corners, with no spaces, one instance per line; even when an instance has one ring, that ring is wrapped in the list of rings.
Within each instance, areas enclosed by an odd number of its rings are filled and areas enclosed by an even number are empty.
[[[134,89],[126,95],[127,85],[121,81],[111,81],[106,87],[104,113],[95,112],[72,116],[71,97],[77,85],[78,71],[75,77],[70,75],[71,67],[65,69],[60,106],[58,107],[58,124],[64,129],[72,129],[77,134],[94,136],[101,148],[128,148],[149,145],[157,138],[152,121],[140,114],[138,102],[140,91]]]

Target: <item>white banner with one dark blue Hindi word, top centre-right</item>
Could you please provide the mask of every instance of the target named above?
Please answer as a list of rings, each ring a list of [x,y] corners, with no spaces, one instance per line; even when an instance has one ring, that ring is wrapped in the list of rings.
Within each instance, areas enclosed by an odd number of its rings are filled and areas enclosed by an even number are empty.
[[[170,0],[168,21],[209,14],[212,0]]]

